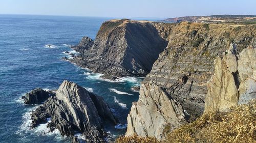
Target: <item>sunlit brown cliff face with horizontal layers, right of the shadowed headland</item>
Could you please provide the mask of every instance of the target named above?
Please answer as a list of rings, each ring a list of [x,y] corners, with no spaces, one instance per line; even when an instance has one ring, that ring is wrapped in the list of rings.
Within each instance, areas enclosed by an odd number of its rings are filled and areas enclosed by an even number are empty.
[[[207,81],[214,74],[214,60],[222,56],[230,42],[237,46],[238,52],[249,45],[256,47],[256,28],[188,22],[167,27],[170,28],[168,45],[143,82],[153,81],[189,115],[199,117],[204,111]]]

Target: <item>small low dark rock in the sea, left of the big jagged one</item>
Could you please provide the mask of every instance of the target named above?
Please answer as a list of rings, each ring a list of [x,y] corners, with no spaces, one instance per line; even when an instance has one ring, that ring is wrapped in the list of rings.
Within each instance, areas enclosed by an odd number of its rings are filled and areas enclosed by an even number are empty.
[[[30,93],[27,93],[22,97],[25,104],[41,104],[50,96],[54,96],[55,93],[52,91],[45,91],[40,88],[32,90]]]

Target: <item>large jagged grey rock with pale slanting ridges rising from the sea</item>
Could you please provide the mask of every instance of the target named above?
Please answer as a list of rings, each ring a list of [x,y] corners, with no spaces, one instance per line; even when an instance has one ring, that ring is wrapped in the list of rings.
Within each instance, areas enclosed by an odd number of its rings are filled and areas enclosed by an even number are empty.
[[[105,142],[103,121],[117,123],[108,104],[76,83],[63,81],[56,92],[43,106],[32,113],[32,127],[47,122],[48,127],[57,128],[61,135],[73,136],[75,131],[83,133],[87,142]]]

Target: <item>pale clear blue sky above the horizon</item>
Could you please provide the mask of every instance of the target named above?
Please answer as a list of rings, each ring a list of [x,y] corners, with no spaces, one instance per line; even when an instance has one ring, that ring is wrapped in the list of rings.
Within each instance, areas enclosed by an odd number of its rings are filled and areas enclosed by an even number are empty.
[[[0,14],[122,18],[256,15],[256,0],[0,0]]]

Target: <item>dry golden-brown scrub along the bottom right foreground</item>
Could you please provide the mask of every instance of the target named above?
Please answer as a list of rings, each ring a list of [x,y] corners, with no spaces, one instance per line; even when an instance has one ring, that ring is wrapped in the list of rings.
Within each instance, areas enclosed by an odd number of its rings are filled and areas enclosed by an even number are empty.
[[[155,138],[119,137],[116,142],[159,142]],[[256,100],[228,112],[209,111],[169,133],[162,142],[256,142]]]

